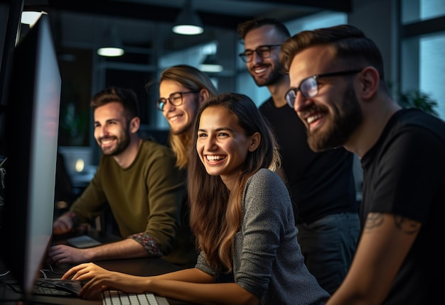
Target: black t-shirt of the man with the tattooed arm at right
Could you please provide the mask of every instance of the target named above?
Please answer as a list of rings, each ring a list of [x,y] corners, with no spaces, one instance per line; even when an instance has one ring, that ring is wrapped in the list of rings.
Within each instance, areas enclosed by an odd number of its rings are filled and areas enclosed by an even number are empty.
[[[441,299],[445,238],[445,123],[415,109],[397,111],[362,157],[360,223],[370,212],[422,223],[384,304]]]

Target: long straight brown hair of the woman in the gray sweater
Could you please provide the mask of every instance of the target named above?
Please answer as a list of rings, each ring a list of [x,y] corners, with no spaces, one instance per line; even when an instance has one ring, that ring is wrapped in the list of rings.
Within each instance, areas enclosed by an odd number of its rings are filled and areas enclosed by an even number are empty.
[[[196,149],[188,166],[188,195],[191,205],[191,228],[198,247],[210,265],[220,272],[232,272],[235,233],[242,223],[242,193],[247,179],[261,168],[276,170],[280,157],[272,128],[264,120],[254,102],[244,94],[225,93],[210,97],[201,104],[195,118],[193,143],[198,138],[200,117],[208,107],[225,107],[237,116],[247,136],[261,135],[256,150],[247,153],[235,189],[230,192],[220,176],[205,171]]]

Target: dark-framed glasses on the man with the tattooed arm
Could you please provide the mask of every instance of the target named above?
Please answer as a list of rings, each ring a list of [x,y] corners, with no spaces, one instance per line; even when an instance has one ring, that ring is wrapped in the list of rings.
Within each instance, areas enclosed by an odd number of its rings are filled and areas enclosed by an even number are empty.
[[[296,92],[300,91],[301,94],[303,94],[303,96],[305,96],[305,97],[313,97],[318,94],[317,79],[320,79],[322,77],[333,77],[333,76],[340,76],[340,75],[355,74],[355,73],[361,72],[362,70],[363,69],[331,72],[331,73],[317,74],[317,75],[313,75],[311,77],[307,77],[300,82],[299,87],[289,89],[286,92],[286,95],[284,96],[284,98],[286,99],[287,104],[291,108],[294,108]]]

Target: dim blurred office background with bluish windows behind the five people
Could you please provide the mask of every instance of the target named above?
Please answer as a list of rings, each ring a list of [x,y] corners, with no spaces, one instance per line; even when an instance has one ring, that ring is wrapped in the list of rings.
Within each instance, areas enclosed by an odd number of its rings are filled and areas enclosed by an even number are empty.
[[[243,50],[237,23],[260,16],[278,18],[291,34],[340,23],[358,26],[379,45],[394,97],[427,94],[437,102],[437,115],[445,118],[444,0],[0,0],[2,71],[10,60],[11,23],[22,9],[50,16],[62,77],[60,152],[80,186],[89,181],[100,155],[89,102],[104,87],[134,89],[142,131],[161,142],[168,123],[154,104],[157,86],[146,91],[144,85],[166,67],[188,64],[204,70],[201,64],[210,61],[218,65],[207,73],[219,91],[247,94],[258,105],[267,99],[267,88],[254,84],[237,56]],[[199,22],[203,33],[173,33],[184,14]],[[21,25],[17,38],[30,26]],[[119,45],[124,54],[98,55],[106,43]]]

